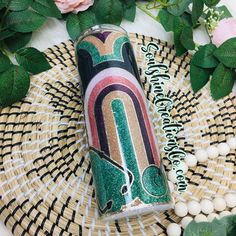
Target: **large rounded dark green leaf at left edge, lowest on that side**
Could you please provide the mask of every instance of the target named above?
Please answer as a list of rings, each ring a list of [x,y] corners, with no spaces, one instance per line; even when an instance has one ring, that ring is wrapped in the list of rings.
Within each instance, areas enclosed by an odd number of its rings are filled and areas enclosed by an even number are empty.
[[[0,106],[9,106],[25,97],[29,90],[29,74],[21,66],[11,66],[0,74]]]

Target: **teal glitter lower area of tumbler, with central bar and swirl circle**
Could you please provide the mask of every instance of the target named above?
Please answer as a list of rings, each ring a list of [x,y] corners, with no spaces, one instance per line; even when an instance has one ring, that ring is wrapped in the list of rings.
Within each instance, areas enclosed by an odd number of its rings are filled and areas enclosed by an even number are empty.
[[[150,165],[143,175],[139,172],[123,102],[114,99],[111,107],[124,163],[121,167],[104,153],[93,149],[90,151],[100,213],[118,212],[135,199],[145,204],[170,202],[167,181],[161,168]]]

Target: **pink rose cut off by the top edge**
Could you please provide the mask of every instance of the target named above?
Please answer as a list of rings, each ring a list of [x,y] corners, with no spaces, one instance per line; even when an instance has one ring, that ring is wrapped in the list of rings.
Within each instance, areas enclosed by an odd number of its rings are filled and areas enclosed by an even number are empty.
[[[55,0],[61,13],[85,11],[93,5],[94,0]]]

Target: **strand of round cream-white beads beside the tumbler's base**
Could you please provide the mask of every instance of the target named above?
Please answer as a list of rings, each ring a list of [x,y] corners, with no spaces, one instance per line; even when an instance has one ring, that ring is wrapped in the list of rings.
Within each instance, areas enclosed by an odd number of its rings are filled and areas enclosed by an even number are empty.
[[[216,159],[219,156],[226,156],[230,150],[236,150],[236,137],[231,137],[227,142],[220,143],[217,146],[209,146],[206,149],[199,149],[195,155],[188,153],[185,163],[182,164],[183,172],[187,173],[188,168],[197,165],[197,162],[206,162],[209,159]],[[173,170],[168,172],[169,186],[171,192],[174,191],[176,175]],[[231,212],[225,210],[232,208]],[[219,212],[219,214],[213,211]],[[230,214],[236,214],[236,193],[226,193],[223,197],[215,197],[213,200],[202,199],[200,202],[192,200],[189,202],[177,202],[174,206],[174,212],[177,216],[182,217],[180,222],[183,229],[194,219],[196,222],[211,222],[214,218],[220,219]],[[202,212],[202,213],[201,213]],[[191,216],[189,216],[189,215]],[[194,217],[194,218],[193,218]],[[171,223],[167,227],[169,236],[180,236],[181,227],[176,223]]]

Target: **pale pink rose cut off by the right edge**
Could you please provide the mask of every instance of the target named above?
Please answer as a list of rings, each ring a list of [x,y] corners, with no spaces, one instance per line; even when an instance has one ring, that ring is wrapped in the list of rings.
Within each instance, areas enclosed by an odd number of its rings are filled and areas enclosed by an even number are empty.
[[[212,42],[219,47],[223,42],[236,37],[236,19],[227,18],[219,21],[212,33]]]

